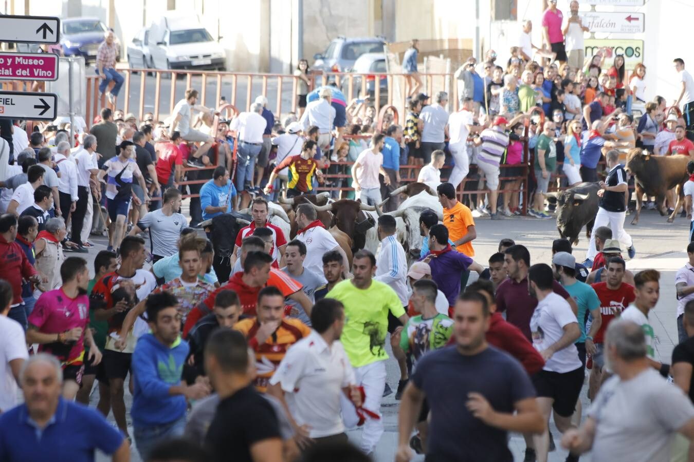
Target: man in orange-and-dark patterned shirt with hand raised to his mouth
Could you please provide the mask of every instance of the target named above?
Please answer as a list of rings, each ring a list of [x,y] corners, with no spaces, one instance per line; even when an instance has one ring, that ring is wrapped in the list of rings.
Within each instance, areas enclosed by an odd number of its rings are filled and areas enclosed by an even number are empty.
[[[255,388],[265,392],[268,382],[290,346],[307,337],[311,328],[298,319],[285,318],[285,297],[277,287],[263,287],[258,294],[256,317],[239,321],[239,330],[255,352]]]

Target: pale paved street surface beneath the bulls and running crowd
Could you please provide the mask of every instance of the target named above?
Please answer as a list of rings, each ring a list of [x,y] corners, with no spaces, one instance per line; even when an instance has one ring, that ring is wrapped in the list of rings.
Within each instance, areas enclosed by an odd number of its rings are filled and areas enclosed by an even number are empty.
[[[626,231],[631,233],[636,245],[637,255],[634,260],[627,263],[627,269],[636,271],[638,269],[654,268],[661,271],[661,298],[654,311],[652,323],[656,331],[659,344],[657,353],[665,362],[670,362],[672,348],[677,342],[677,328],[675,326],[675,311],[677,301],[675,299],[675,272],[677,268],[686,262],[686,248],[688,236],[688,221],[684,218],[677,218],[675,224],[666,224],[666,217],[661,217],[655,211],[644,211],[641,216],[641,224],[631,226],[628,224],[631,217],[627,216],[628,226]],[[486,265],[486,260],[496,252],[497,245],[502,238],[512,238],[516,243],[523,244],[530,249],[532,256],[531,263],[550,263],[552,240],[559,237],[554,220],[538,220],[534,218],[511,218],[501,222],[491,222],[489,219],[477,220],[477,239],[475,245],[475,260],[482,265]],[[96,249],[90,251],[91,260],[96,252],[105,248],[103,238],[96,238]],[[103,245],[102,245],[103,244]],[[579,245],[575,248],[577,260],[584,259],[585,251],[588,247],[588,240],[585,235],[581,236]],[[393,390],[398,384],[398,368],[394,360],[387,362],[388,382]],[[126,391],[126,393],[128,393]],[[92,405],[96,404],[98,396],[96,391],[92,394]],[[584,392],[582,393],[582,404],[584,414],[589,406],[589,401]],[[126,405],[129,408],[132,398],[126,397]],[[398,435],[398,403],[393,395],[384,398],[381,408],[385,433],[381,438],[380,444],[374,455],[376,462],[390,462],[396,450]],[[109,418],[112,421],[112,417]],[[128,422],[130,418],[128,416]],[[551,425],[555,435],[557,446],[559,445],[559,432],[556,427]],[[132,434],[132,433],[131,433]],[[360,431],[350,432],[350,438],[359,438]],[[522,436],[514,434],[511,436],[511,450],[514,452],[515,460],[523,460],[525,443]],[[550,453],[550,461],[564,461],[566,451],[557,448]],[[100,459],[105,460],[105,459]],[[423,460],[423,457],[415,459]],[[582,461],[590,461],[589,455],[581,458]],[[137,452],[133,449],[133,461],[139,461]]]

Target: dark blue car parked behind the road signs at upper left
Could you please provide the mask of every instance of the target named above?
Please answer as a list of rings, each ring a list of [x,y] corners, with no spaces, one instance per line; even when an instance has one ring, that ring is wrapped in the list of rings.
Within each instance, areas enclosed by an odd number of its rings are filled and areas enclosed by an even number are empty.
[[[103,42],[103,35],[108,31],[103,22],[96,17],[73,17],[60,20],[60,45],[64,56],[83,56],[85,62],[96,61],[96,51]],[[120,60],[121,44],[115,37]]]

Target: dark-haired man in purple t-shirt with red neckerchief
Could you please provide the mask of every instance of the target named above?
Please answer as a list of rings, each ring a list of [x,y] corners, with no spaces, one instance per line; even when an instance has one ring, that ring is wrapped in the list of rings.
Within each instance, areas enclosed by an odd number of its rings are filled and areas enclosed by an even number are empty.
[[[468,269],[478,274],[484,271],[479,263],[450,248],[448,228],[443,224],[434,224],[429,230],[429,254],[422,259],[432,269],[432,279],[439,290],[448,299],[448,304],[455,306],[455,299],[460,293],[460,274]]]

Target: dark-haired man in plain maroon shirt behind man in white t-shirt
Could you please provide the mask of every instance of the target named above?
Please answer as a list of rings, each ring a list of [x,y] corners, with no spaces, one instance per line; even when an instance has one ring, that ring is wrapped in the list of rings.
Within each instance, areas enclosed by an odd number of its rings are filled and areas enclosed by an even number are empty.
[[[532,341],[530,336],[530,318],[537,306],[537,299],[530,296],[527,290],[527,272],[530,269],[530,252],[523,245],[514,245],[504,252],[504,267],[509,278],[496,289],[496,308],[498,312],[506,312],[506,320],[521,329],[525,338]],[[555,294],[561,295],[574,313],[578,312],[576,302],[554,281],[552,287]]]

